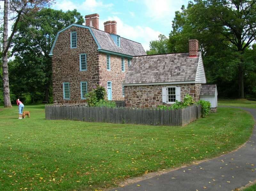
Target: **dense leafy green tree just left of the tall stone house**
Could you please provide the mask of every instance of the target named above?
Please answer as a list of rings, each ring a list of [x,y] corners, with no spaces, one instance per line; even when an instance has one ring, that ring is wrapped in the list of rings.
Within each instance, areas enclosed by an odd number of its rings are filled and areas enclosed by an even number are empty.
[[[83,16],[76,10],[63,12],[50,8],[43,8],[19,22],[12,49],[17,63],[10,71],[10,82],[15,86],[15,94],[28,92],[32,103],[42,99],[49,101],[52,90],[52,60],[49,52],[58,31],[72,23],[82,25]],[[28,82],[23,84],[26,88],[20,90],[17,87],[17,75]]]

